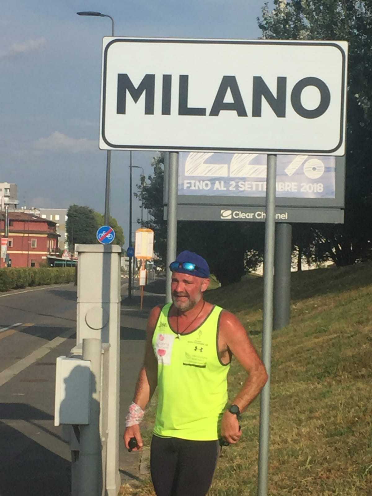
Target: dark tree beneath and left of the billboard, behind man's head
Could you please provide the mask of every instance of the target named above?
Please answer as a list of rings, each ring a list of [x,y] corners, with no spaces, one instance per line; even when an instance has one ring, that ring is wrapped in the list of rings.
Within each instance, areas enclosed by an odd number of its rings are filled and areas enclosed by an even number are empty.
[[[156,253],[166,260],[167,223],[163,220],[164,156],[160,154],[151,162],[154,172],[141,178],[137,197],[151,214],[145,227],[155,232]],[[254,223],[253,223],[254,224]],[[212,273],[222,285],[237,282],[246,270],[252,270],[262,261],[263,226],[240,222],[186,222],[179,221],[177,229],[178,252],[189,249],[204,256]],[[261,235],[259,235],[261,231]],[[247,250],[250,250],[248,256]]]

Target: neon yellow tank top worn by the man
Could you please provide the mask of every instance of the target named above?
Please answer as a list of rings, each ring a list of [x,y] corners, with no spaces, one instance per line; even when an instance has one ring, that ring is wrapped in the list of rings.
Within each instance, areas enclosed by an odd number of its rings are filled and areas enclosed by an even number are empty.
[[[222,309],[214,307],[197,329],[178,338],[168,322],[171,305],[161,310],[152,338],[159,397],[154,434],[212,441],[220,437],[228,401],[230,364],[223,364],[218,355]]]

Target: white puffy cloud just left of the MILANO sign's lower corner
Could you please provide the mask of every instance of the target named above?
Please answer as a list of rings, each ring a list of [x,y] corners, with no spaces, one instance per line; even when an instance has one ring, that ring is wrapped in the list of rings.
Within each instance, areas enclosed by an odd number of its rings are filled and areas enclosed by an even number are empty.
[[[94,152],[98,150],[98,140],[70,138],[62,132],[54,131],[48,138],[39,138],[33,143],[36,150],[64,151],[70,153]]]

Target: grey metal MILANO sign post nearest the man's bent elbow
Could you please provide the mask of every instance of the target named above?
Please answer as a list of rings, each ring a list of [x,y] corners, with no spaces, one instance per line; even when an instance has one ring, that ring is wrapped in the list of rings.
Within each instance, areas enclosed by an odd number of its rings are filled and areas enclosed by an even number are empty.
[[[258,496],[267,496],[269,460],[271,335],[273,327],[274,251],[275,251],[276,155],[267,156],[265,251],[263,268],[262,361],[269,376],[261,391],[258,454]]]

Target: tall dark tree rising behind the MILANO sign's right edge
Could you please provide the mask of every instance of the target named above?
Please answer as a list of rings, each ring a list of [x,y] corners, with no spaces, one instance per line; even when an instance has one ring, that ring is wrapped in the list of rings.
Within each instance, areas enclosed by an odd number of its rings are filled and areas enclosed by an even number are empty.
[[[345,224],[307,227],[313,256],[349,265],[372,257],[372,1],[274,0],[257,19],[264,39],[349,42]],[[310,236],[310,237],[311,237]]]

